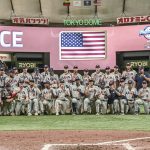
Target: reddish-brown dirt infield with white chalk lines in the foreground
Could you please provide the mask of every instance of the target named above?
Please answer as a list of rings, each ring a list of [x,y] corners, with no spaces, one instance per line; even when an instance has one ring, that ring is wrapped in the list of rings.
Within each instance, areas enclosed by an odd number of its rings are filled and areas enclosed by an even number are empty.
[[[150,132],[1,131],[0,150],[149,150]]]

